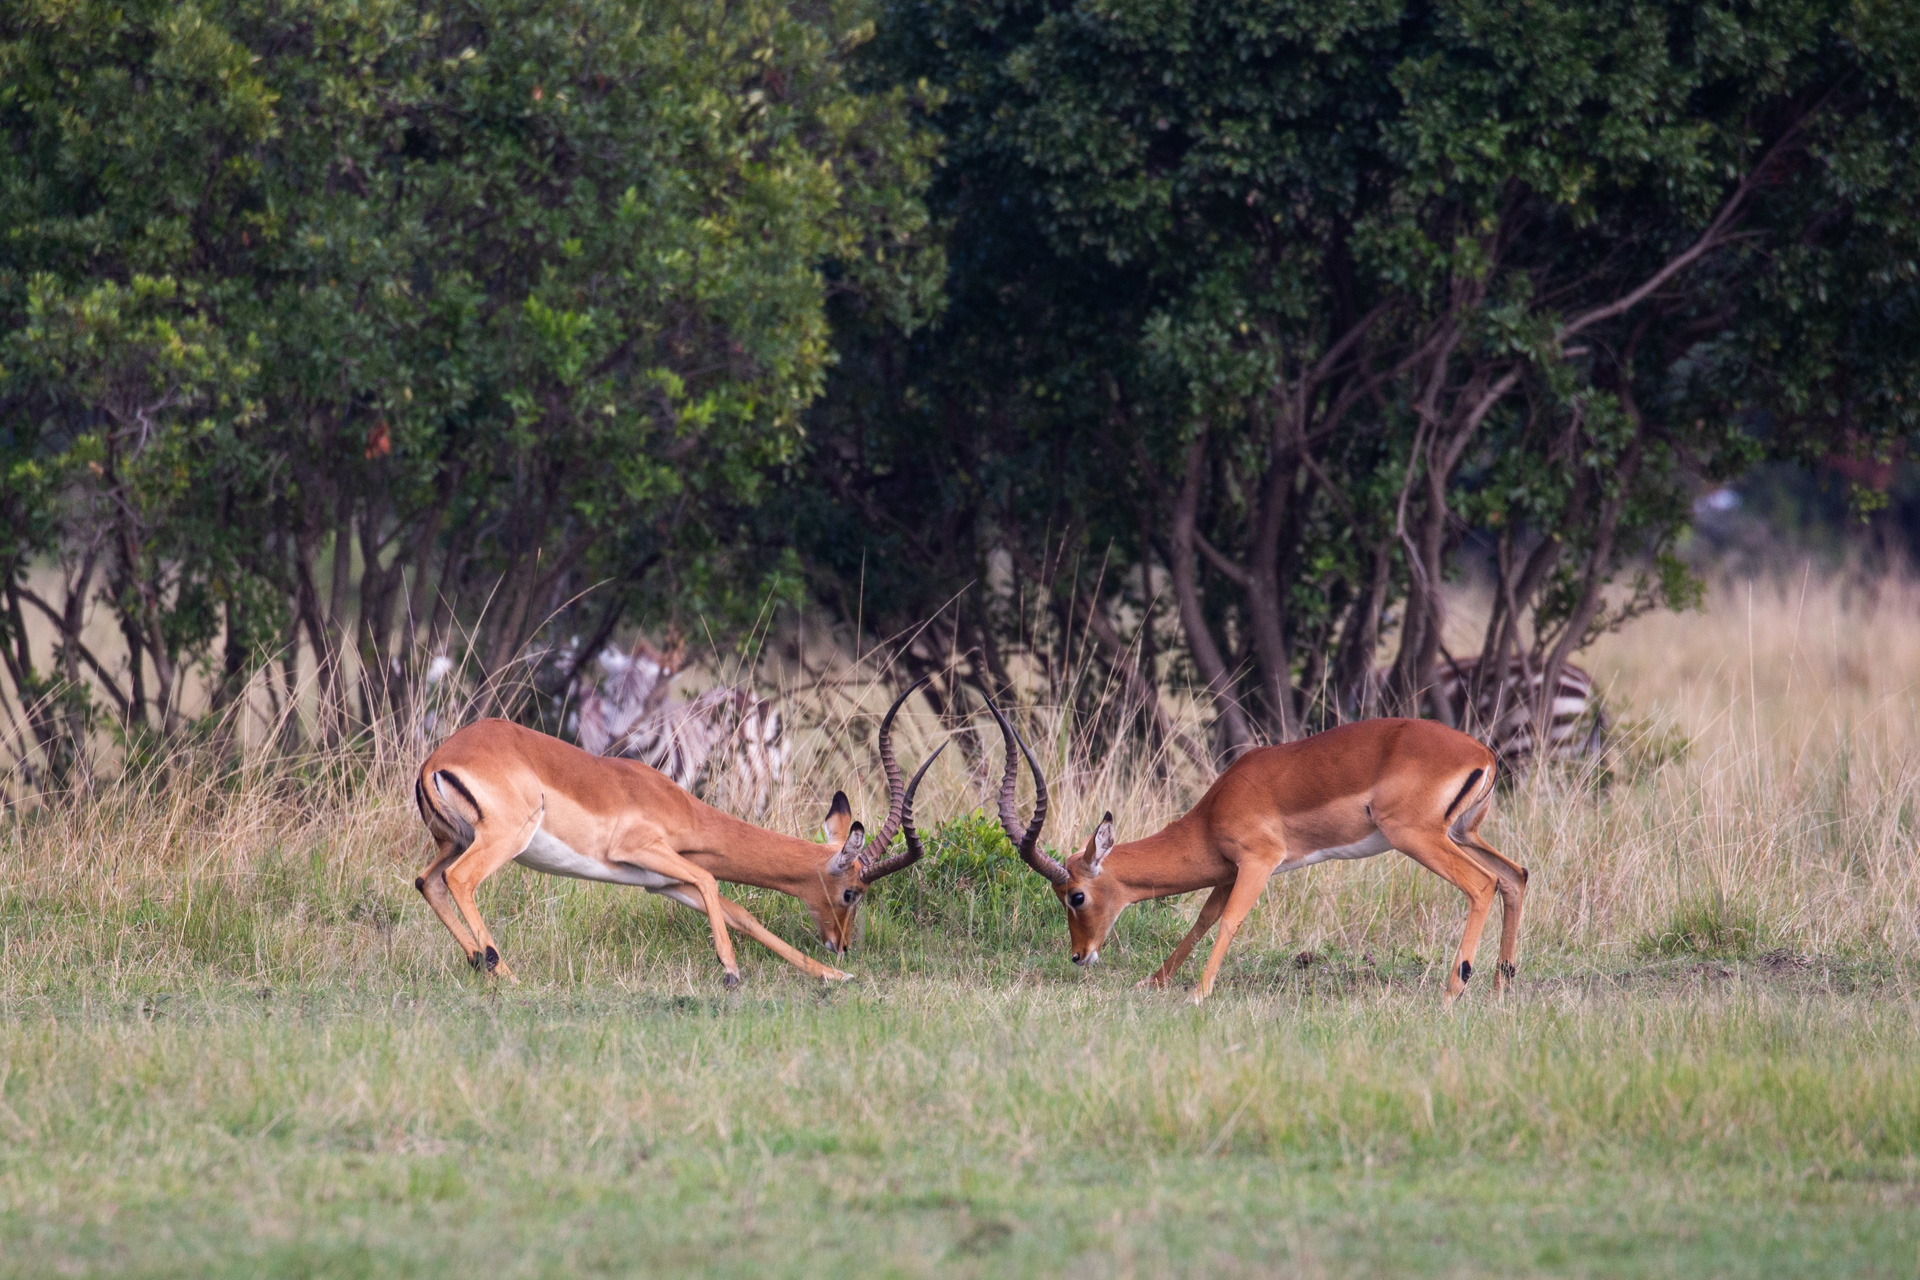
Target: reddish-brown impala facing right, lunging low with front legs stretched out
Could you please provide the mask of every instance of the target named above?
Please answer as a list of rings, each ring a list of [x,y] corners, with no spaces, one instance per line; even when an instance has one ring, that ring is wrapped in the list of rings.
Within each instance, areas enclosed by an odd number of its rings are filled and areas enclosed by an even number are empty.
[[[747,908],[722,898],[718,881],[793,894],[812,912],[826,950],[845,954],[868,887],[920,862],[914,791],[941,752],[927,756],[902,789],[893,718],[922,683],[910,685],[879,722],[887,819],[872,841],[852,821],[845,793],[833,794],[828,841],[816,844],[722,814],[637,760],[595,756],[507,720],[467,725],[426,758],[415,779],[413,798],[436,852],[413,887],[468,963],[501,977],[513,977],[513,969],[499,958],[474,892],[518,862],[547,875],[634,885],[705,912],[728,986],[739,986],[730,923],[804,973],[845,981],[851,975],[803,956]],[[897,831],[904,831],[906,848],[889,858]]]

